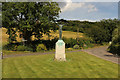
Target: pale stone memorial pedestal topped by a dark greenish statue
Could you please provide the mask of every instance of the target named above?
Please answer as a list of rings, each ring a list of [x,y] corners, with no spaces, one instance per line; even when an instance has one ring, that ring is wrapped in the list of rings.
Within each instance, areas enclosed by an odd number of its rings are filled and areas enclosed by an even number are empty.
[[[56,52],[55,52],[55,60],[66,61],[65,43],[62,40],[62,25],[60,25],[59,40],[56,42],[55,50],[56,50]]]

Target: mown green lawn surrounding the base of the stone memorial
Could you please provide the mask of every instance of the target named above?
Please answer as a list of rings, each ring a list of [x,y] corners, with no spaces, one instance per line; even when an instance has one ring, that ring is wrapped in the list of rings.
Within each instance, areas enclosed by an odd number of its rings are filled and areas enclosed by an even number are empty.
[[[84,52],[66,53],[67,61],[53,61],[54,54],[3,59],[3,78],[117,78],[118,65]]]

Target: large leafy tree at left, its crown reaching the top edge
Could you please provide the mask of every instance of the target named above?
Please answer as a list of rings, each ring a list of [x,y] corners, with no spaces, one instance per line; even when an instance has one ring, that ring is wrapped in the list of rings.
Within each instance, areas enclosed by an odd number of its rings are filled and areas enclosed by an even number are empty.
[[[55,30],[55,21],[59,17],[60,8],[56,2],[10,2],[3,3],[3,27],[7,29],[9,42],[12,43],[21,33],[27,42],[31,36],[40,39],[43,34],[49,35],[50,30]]]

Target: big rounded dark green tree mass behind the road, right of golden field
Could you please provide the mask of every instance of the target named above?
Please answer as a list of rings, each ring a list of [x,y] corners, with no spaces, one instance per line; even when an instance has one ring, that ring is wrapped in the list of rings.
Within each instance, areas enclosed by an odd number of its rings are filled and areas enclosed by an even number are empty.
[[[103,19],[94,25],[89,24],[91,27],[86,28],[85,33],[92,37],[96,43],[109,42],[112,41],[112,33],[119,23],[117,19]]]

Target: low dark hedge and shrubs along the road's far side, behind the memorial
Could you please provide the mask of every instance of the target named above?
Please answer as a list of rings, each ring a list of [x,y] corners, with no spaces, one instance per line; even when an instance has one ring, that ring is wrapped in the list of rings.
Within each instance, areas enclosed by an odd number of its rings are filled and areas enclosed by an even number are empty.
[[[58,41],[58,38],[52,40],[36,40],[32,41],[29,45],[24,45],[23,43],[9,43],[3,46],[3,50],[13,50],[13,51],[42,51],[42,50],[51,50],[55,49],[55,43]],[[80,38],[79,40],[73,38],[63,37],[66,48],[75,48],[75,45],[80,48],[93,47],[94,41],[91,38]],[[29,50],[30,49],[30,50]]]

